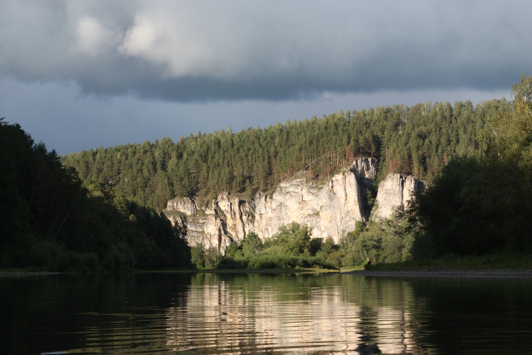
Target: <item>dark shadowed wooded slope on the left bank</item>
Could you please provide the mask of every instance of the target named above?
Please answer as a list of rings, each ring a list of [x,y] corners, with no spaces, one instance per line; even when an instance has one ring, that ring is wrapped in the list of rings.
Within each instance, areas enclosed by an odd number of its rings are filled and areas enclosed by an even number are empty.
[[[123,271],[186,267],[181,231],[126,197],[90,193],[55,151],[0,120],[0,267]]]

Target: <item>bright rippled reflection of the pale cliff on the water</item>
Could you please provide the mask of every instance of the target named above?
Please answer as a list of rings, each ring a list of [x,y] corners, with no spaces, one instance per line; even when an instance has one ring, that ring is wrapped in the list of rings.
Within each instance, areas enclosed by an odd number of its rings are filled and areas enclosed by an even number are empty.
[[[412,352],[412,288],[382,281],[198,275],[187,306],[168,310],[168,345],[177,351]]]

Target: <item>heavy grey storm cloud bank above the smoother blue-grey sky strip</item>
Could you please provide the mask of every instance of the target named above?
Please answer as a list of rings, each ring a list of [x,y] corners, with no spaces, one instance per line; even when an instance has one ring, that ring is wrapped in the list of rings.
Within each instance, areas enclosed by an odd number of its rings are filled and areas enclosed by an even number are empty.
[[[0,72],[168,101],[507,89],[531,2],[0,3]]]

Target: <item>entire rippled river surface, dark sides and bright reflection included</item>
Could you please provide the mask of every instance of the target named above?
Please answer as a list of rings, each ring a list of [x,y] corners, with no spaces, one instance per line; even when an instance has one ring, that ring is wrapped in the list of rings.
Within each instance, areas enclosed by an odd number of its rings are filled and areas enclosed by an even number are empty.
[[[0,353],[530,353],[532,279],[0,278]]]

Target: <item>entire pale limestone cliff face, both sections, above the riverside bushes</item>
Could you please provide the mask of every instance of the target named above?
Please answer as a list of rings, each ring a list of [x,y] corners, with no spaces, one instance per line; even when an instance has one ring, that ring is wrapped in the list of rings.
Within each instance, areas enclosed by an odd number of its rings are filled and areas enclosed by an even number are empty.
[[[357,221],[368,220],[371,208],[367,192],[373,188],[377,169],[375,158],[359,158],[325,183],[296,175],[282,181],[273,192],[257,194],[252,201],[222,193],[200,207],[188,197],[177,197],[168,201],[163,212],[174,224],[186,228],[190,245],[204,243],[206,247],[220,247],[222,252],[249,232],[264,240],[293,221],[311,227],[313,237],[330,236],[338,242],[355,229]],[[379,185],[378,208],[372,218],[385,219],[405,206],[419,184],[411,176],[389,175]]]

